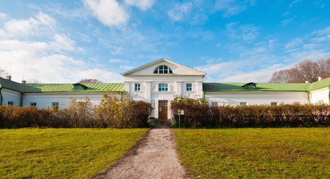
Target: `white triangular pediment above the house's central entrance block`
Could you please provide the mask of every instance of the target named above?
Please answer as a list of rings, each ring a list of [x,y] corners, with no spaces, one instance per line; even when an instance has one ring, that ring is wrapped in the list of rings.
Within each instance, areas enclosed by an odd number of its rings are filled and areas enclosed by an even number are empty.
[[[161,67],[161,66],[166,66],[171,68],[172,73],[155,74],[154,70],[157,69],[157,67]],[[121,73],[122,76],[126,76],[126,75],[203,75],[204,76],[205,74],[206,73],[202,71],[193,69],[191,67],[186,67],[184,65],[178,64],[176,62],[173,62],[165,58],[161,58],[149,64],[143,65],[141,67],[137,67],[132,70],[129,70],[125,73]]]

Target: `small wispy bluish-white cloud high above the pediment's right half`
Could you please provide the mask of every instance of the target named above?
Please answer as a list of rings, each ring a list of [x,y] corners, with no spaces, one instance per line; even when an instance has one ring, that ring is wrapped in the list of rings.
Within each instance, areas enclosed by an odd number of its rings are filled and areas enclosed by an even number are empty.
[[[180,21],[189,15],[192,7],[193,3],[191,2],[178,3],[172,10],[168,12],[168,15],[173,21]]]

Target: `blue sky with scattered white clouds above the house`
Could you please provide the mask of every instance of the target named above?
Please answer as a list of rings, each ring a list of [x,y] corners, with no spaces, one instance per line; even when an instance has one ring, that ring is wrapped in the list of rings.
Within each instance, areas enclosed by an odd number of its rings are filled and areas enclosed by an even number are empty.
[[[0,67],[9,72],[13,58],[17,82],[25,57],[24,77],[42,83],[122,83],[120,73],[160,58],[206,82],[268,82],[300,59],[330,57],[328,0],[0,3]]]

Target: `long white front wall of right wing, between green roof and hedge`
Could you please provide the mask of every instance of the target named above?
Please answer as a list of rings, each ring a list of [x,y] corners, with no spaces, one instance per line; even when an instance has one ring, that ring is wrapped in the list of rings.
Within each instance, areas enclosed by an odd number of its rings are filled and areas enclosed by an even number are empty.
[[[306,92],[265,92],[265,91],[230,91],[230,92],[205,92],[205,99],[211,102],[218,102],[218,105],[239,105],[240,102],[247,102],[247,105],[268,104],[271,102],[308,104]]]

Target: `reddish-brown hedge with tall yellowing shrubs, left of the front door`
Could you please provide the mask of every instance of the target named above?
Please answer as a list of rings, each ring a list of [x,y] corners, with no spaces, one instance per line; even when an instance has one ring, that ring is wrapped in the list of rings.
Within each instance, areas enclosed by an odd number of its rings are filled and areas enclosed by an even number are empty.
[[[133,101],[126,91],[123,98],[106,92],[99,105],[93,105],[88,97],[84,101],[72,97],[64,109],[1,105],[0,128],[137,128],[149,126],[151,112],[151,103]]]

